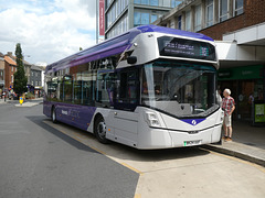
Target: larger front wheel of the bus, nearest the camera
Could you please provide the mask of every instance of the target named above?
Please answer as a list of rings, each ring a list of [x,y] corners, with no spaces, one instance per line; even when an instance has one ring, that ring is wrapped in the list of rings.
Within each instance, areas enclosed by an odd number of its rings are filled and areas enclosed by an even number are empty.
[[[108,143],[108,140],[106,139],[106,124],[105,121],[102,117],[98,117],[95,121],[95,128],[94,128],[94,133],[97,138],[97,140],[100,143]]]

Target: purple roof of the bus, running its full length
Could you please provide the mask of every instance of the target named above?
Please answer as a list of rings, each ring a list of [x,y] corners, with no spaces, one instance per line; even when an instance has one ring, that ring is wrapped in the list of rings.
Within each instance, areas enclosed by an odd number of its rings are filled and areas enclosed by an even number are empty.
[[[213,41],[211,37],[200,33],[187,32],[187,31],[181,31],[177,29],[169,29],[169,28],[157,26],[151,24],[142,25],[142,26],[134,28],[124,34],[106,40],[103,43],[99,43],[89,48],[81,51],[76,54],[67,56],[59,62],[55,62],[46,67],[46,73],[57,72],[61,69],[65,69],[67,67],[85,64],[92,61],[96,61],[96,59],[100,59],[104,57],[123,53],[125,50],[129,48],[132,45],[131,42],[138,34],[148,33],[148,32],[158,32],[158,33],[165,33],[165,34],[187,36],[191,38]]]

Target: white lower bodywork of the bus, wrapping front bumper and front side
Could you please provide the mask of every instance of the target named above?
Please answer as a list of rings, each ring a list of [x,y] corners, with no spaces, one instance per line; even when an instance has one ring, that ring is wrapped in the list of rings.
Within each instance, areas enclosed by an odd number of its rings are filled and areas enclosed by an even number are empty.
[[[160,128],[148,125],[147,112],[157,114]],[[192,145],[209,144],[221,139],[221,109],[195,125],[144,107],[138,107],[135,112],[97,108],[95,116],[97,113],[104,117],[107,139],[140,150],[182,147],[191,142]],[[93,132],[93,123],[87,131]]]

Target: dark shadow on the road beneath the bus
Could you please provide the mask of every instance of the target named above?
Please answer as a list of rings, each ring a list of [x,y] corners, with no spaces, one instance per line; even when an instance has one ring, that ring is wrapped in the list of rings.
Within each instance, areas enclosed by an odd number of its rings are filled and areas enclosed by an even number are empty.
[[[70,143],[71,145],[75,146],[78,150],[88,151],[106,154],[108,156],[117,157],[120,160],[131,160],[140,161],[140,162],[160,162],[160,161],[168,161],[168,160],[182,160],[182,158],[190,158],[194,156],[208,155],[210,152],[205,150],[201,150],[199,146],[193,147],[178,147],[178,148],[165,148],[165,150],[137,150],[127,145],[123,145],[116,142],[110,142],[108,144],[102,144],[97,142],[96,138],[86,131],[76,129],[74,127],[67,125],[65,123],[56,123],[53,127],[53,123],[46,117],[26,117],[29,120],[34,122],[35,124],[40,125],[47,132],[56,135],[57,138],[62,139],[63,141]],[[46,123],[45,123],[46,122]],[[47,124],[51,123],[51,124]],[[83,141],[77,141],[71,138],[67,134],[64,134],[56,128],[63,128],[66,130],[72,131],[75,133],[78,139],[82,138],[88,143],[83,143]],[[92,148],[93,147],[93,148]],[[96,148],[96,151],[94,150]]]

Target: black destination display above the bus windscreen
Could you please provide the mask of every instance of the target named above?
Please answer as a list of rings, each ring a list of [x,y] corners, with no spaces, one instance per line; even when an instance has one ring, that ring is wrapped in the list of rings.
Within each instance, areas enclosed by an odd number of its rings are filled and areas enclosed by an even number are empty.
[[[158,37],[160,56],[215,61],[215,47],[210,43],[179,37]]]

